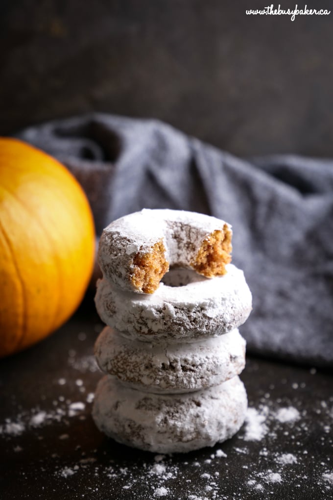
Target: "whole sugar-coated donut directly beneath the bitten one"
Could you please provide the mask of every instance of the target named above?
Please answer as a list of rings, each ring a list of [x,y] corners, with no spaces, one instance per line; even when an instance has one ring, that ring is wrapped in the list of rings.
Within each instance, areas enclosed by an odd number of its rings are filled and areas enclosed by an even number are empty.
[[[95,303],[101,319],[127,338],[182,342],[218,336],[248,318],[252,295],[243,271],[227,265],[208,279],[190,269],[169,271],[153,294],[122,291],[99,280]],[[175,286],[171,286],[175,285]]]

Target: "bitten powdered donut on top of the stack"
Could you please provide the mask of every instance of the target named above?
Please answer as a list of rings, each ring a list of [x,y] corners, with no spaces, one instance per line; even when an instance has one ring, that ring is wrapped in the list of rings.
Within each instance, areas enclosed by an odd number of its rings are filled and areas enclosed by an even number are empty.
[[[122,290],[154,293],[169,266],[206,277],[225,274],[231,238],[230,224],[216,217],[145,208],[104,229],[98,261],[104,276]]]

